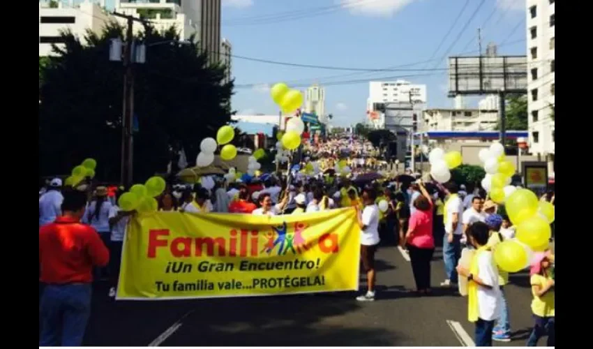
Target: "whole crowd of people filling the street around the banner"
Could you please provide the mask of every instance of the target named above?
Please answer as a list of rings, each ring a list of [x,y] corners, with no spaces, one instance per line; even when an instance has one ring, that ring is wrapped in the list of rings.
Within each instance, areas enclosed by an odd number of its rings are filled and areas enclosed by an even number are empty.
[[[332,140],[308,149],[308,158],[303,158],[301,168],[309,158],[322,163],[314,173],[296,169],[234,183],[212,178],[214,186],[209,189],[171,182],[158,198],[158,210],[276,216],[353,207],[367,280],[366,292],[356,297],[360,302],[375,300],[375,253],[380,244],[398,245],[409,254],[416,283],[410,292],[430,295],[435,242],[442,240],[446,275],[440,286],[454,288],[460,277],[467,279],[468,318],[476,323],[476,345],[510,341],[504,298],[509,276],[493,262],[496,245],[514,236],[509,218],[500,215],[501,208],[479,187],[470,186],[468,193],[465,185],[453,181],[442,185],[405,174],[377,174],[384,163],[368,156],[370,149],[370,144],[352,139]],[[347,175],[336,172],[338,161],[346,161]],[[133,214],[117,205],[124,192],[123,187],[114,195],[105,186],[62,188],[57,178],[40,193],[40,281],[45,284],[40,346],[80,346],[93,279],[110,283],[109,296],[115,296],[123,237]],[[542,200],[554,202],[554,196]],[[463,248],[476,250],[467,268],[459,263]],[[536,322],[530,346],[546,333],[548,346],[555,345],[553,262],[553,254],[546,251],[538,253],[531,265]]]

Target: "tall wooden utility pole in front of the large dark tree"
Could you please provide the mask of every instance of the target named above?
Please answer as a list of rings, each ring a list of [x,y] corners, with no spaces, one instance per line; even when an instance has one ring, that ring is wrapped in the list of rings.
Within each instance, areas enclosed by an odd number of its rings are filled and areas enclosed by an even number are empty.
[[[121,184],[128,188],[133,183],[133,167],[134,167],[134,70],[133,70],[133,54],[134,54],[134,22],[142,22],[140,18],[130,15],[123,15],[121,13],[112,13],[116,17],[125,18],[128,21],[128,28],[126,29],[126,48],[123,52],[123,110],[121,115]]]

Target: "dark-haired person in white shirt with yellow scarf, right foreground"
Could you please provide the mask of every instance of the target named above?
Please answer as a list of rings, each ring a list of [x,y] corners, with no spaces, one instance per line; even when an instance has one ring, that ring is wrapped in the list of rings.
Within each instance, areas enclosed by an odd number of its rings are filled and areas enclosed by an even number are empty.
[[[474,337],[476,346],[491,347],[495,320],[500,317],[502,311],[502,295],[493,253],[488,249],[481,249],[482,246],[488,244],[490,228],[486,223],[476,222],[467,230],[467,236],[470,244],[478,250],[474,257],[477,263],[477,273],[472,274],[472,270],[462,266],[457,267],[457,272],[461,277],[467,278],[468,282],[477,285],[477,318],[472,318],[472,309],[468,312],[469,320],[476,324]],[[468,306],[470,305],[468,304]]]

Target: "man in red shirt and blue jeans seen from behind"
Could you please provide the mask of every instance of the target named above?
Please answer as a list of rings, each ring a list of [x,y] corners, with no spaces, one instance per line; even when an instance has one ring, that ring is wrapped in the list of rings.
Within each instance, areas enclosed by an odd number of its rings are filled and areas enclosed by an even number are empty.
[[[109,262],[109,250],[98,232],[80,223],[87,194],[63,193],[62,216],[39,228],[40,299],[39,346],[81,346],[91,313],[93,267]]]

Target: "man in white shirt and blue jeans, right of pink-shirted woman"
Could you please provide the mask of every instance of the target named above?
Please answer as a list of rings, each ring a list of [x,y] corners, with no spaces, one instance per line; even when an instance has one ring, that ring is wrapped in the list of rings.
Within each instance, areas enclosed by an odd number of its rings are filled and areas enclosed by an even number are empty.
[[[463,237],[463,201],[458,195],[458,186],[455,182],[449,181],[444,187],[449,193],[445,202],[445,235],[443,239],[443,260],[445,265],[446,279],[441,286],[450,286],[457,283],[457,272],[455,267],[461,257],[461,237]]]

